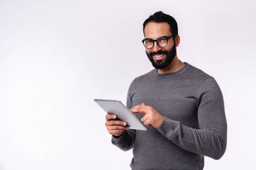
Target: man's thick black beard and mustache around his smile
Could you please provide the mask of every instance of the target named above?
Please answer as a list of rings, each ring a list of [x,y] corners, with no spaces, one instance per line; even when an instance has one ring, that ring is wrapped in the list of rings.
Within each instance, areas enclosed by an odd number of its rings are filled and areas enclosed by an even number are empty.
[[[156,54],[165,54],[166,58],[162,59],[162,60],[154,61],[153,55],[156,55]],[[170,65],[170,63],[172,62],[172,60],[174,59],[174,57],[176,55],[176,44],[175,44],[175,41],[174,41],[174,46],[172,47],[172,50],[170,50],[170,51],[159,50],[158,52],[151,52],[150,54],[148,54],[146,52],[146,55],[148,56],[148,59],[151,61],[153,67],[155,67],[156,69],[164,69],[168,65]]]

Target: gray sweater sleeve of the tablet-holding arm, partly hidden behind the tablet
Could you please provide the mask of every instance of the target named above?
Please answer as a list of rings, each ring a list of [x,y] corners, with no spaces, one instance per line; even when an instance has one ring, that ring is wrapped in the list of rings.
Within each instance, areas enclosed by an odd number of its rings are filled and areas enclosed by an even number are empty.
[[[131,83],[131,85],[128,89],[128,93],[127,93],[126,107],[128,109],[131,109],[133,107],[133,103],[132,103],[131,96],[130,96],[133,82]],[[128,130],[123,131],[122,135],[120,135],[118,137],[112,135],[111,143],[123,151],[128,151],[133,148],[135,138],[136,138],[136,130],[128,129]]]

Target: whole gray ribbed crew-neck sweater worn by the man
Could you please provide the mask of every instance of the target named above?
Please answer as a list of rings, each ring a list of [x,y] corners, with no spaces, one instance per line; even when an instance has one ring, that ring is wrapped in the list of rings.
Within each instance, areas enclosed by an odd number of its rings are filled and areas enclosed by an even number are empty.
[[[184,62],[177,72],[157,69],[136,77],[128,89],[126,106],[153,107],[164,120],[159,129],[129,129],[112,135],[123,151],[133,148],[132,170],[202,170],[204,156],[220,159],[227,145],[224,100],[214,77]],[[144,116],[133,113],[138,120]]]

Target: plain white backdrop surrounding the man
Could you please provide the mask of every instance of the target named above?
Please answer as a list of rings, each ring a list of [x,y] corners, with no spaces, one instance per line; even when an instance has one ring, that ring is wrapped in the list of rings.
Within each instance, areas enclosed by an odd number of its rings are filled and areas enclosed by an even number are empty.
[[[215,77],[228,144],[204,170],[256,167],[256,3],[0,0],[0,170],[131,170],[94,98],[121,100],[154,67],[143,22],[178,23],[177,56]]]

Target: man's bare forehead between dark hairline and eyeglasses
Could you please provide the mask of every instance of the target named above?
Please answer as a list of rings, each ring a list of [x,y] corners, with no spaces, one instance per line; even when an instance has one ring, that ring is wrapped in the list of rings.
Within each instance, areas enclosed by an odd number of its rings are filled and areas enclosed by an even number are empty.
[[[158,37],[167,35],[171,36],[172,33],[170,32],[170,26],[168,23],[154,23],[150,22],[147,23],[144,28],[145,38],[152,38],[156,39]]]

